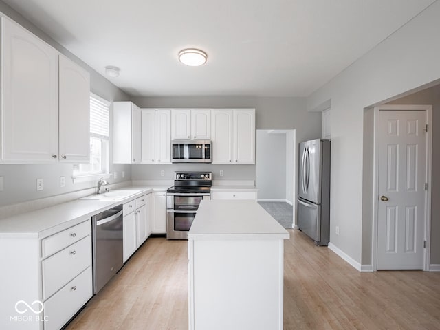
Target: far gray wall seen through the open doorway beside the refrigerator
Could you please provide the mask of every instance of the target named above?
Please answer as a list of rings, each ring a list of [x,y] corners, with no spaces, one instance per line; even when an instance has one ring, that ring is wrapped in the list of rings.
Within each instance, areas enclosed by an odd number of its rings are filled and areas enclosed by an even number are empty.
[[[256,131],[256,184],[259,199],[286,199],[286,134]]]

